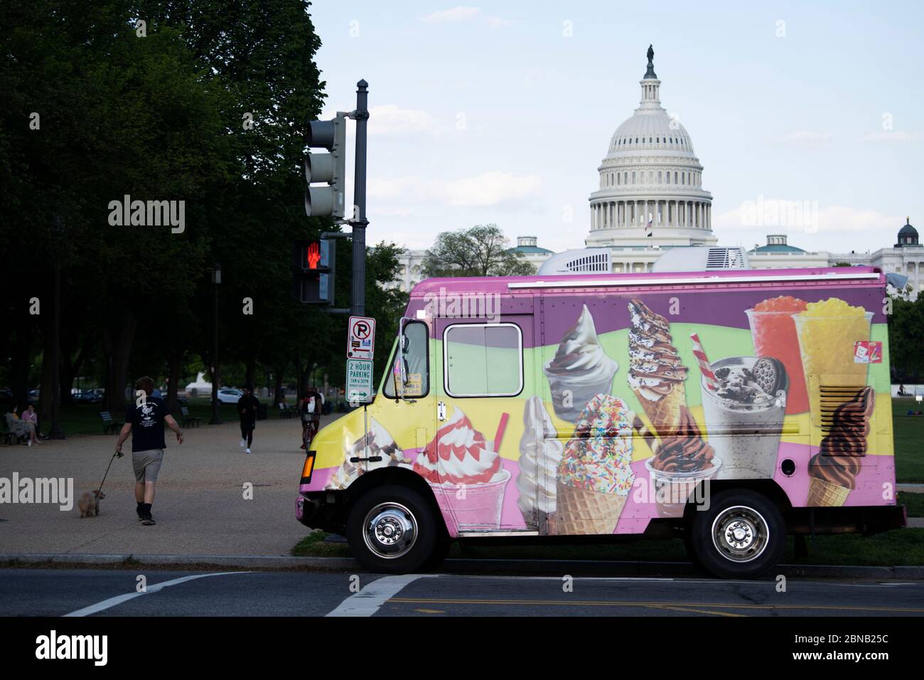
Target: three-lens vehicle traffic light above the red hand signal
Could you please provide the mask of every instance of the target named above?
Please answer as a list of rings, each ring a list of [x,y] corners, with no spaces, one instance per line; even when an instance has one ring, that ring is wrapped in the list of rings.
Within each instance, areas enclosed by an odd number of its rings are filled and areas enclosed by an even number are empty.
[[[308,130],[308,145],[327,149],[329,154],[309,154],[305,157],[305,215],[344,216],[344,179],[346,178],[346,118],[312,120]],[[312,187],[324,182],[327,186]]]

